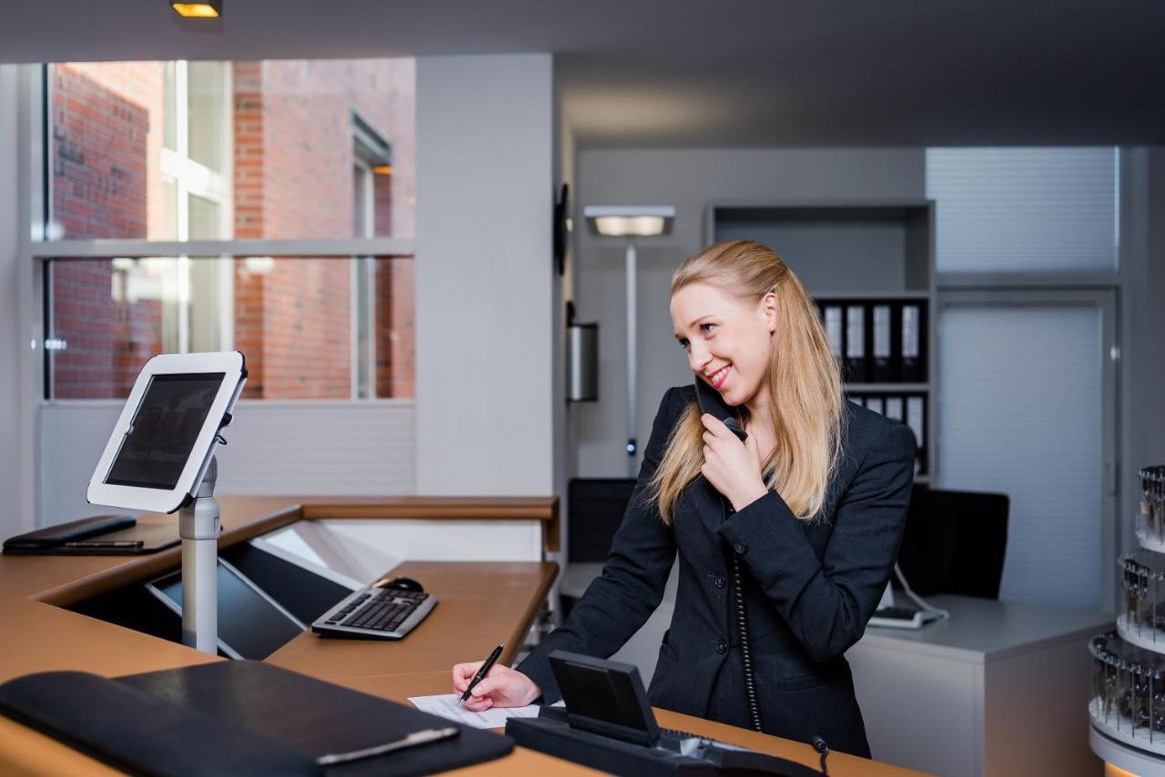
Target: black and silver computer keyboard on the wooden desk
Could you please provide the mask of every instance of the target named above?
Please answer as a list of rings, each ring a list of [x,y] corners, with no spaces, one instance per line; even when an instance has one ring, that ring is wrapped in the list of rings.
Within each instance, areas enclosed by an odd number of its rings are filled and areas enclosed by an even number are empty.
[[[353,591],[317,617],[311,630],[332,637],[400,640],[436,605],[432,594],[368,586]]]

